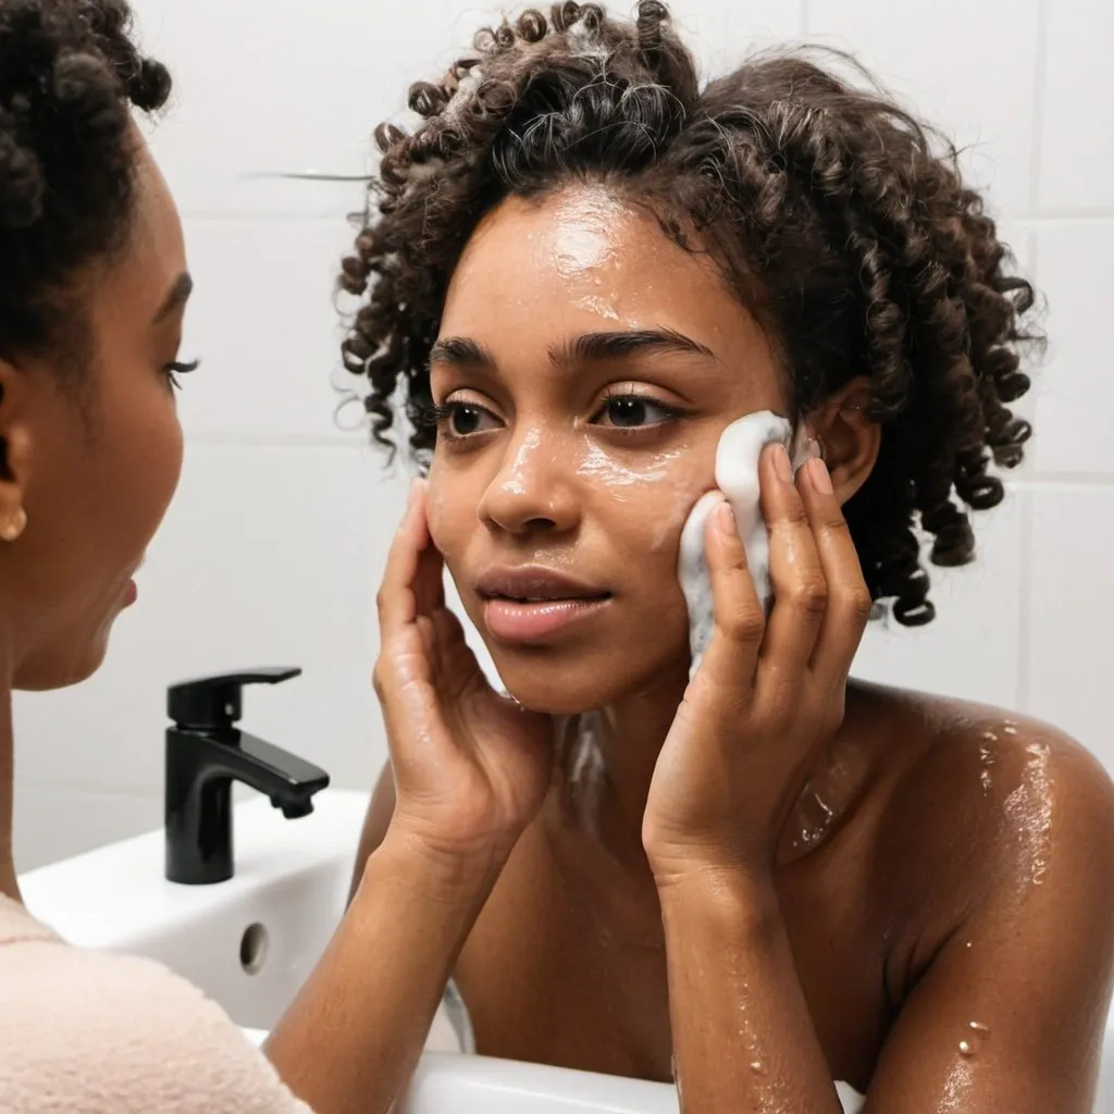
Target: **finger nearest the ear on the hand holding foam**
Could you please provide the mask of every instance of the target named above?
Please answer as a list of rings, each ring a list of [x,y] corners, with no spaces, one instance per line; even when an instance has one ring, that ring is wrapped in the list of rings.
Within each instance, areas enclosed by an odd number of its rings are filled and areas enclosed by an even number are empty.
[[[844,681],[870,618],[870,590],[824,462],[810,460],[801,469],[798,486],[828,584],[828,609],[812,652],[812,668]]]

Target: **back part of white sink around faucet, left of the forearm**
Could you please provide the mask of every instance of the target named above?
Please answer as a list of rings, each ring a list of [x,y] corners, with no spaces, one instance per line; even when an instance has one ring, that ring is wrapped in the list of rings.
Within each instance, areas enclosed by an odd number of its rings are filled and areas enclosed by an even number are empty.
[[[157,831],[23,874],[23,900],[71,944],[157,959],[238,1025],[267,1029],[332,936],[368,803],[335,791],[317,800],[301,820],[263,798],[238,805],[227,882],[166,881]]]

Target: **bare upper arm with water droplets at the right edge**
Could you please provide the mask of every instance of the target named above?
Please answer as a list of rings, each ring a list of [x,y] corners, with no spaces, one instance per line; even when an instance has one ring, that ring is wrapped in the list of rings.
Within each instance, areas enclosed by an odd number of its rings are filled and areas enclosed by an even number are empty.
[[[1085,1114],[1114,973],[1114,786],[1034,740],[987,848],[985,898],[909,995],[867,1112]]]

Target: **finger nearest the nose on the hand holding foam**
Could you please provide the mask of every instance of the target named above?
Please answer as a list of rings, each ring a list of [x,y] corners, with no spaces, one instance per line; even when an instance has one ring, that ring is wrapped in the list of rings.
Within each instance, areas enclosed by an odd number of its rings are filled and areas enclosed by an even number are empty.
[[[758,667],[765,616],[726,499],[709,515],[705,549],[714,628],[697,675],[745,700]]]

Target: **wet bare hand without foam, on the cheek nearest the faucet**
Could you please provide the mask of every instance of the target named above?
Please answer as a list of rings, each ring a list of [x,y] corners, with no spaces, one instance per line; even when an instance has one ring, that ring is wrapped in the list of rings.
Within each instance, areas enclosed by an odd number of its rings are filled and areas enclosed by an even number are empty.
[[[548,789],[550,722],[488,683],[446,607],[443,567],[418,481],[378,597],[374,682],[394,774],[391,827],[437,853],[506,856]]]

